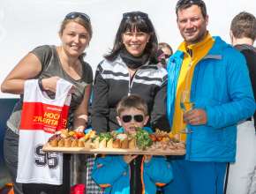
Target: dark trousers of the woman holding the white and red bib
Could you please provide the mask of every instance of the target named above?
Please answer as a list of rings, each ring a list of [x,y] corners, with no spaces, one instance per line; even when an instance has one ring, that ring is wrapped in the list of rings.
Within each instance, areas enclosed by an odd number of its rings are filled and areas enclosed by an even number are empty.
[[[69,194],[70,193],[70,154],[64,154],[63,184],[16,183],[18,169],[19,135],[7,128],[4,137],[4,160],[14,183],[15,194]]]

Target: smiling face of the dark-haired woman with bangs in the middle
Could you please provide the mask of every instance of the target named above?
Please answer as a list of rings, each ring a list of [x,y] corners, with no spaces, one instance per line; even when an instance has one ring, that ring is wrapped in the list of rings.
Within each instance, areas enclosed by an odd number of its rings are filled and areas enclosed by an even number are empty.
[[[149,38],[149,34],[138,32],[136,29],[134,32],[126,31],[122,34],[124,47],[132,56],[141,56],[143,54]]]

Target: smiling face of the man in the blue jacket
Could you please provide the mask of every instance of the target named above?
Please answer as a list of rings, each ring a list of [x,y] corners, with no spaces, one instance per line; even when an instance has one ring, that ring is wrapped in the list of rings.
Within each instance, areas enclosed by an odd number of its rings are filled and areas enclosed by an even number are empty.
[[[184,41],[194,44],[201,41],[207,34],[208,16],[202,15],[198,5],[177,11],[177,26]]]

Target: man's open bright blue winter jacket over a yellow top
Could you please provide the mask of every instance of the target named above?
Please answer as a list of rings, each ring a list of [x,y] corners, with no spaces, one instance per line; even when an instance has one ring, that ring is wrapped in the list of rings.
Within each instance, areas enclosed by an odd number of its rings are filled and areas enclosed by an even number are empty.
[[[253,115],[252,94],[245,57],[214,37],[215,44],[195,67],[191,101],[207,113],[204,125],[188,125],[186,160],[235,161],[237,123]],[[167,111],[170,126],[174,112],[177,78],[184,53],[177,50],[168,63]]]

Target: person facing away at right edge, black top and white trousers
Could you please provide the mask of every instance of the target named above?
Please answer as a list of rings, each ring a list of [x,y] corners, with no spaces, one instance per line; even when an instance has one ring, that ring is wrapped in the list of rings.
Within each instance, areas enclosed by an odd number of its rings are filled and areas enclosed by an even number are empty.
[[[232,45],[244,56],[256,96],[256,19],[252,13],[240,12],[231,21]],[[256,113],[237,125],[236,162],[230,163],[227,194],[256,193]]]

